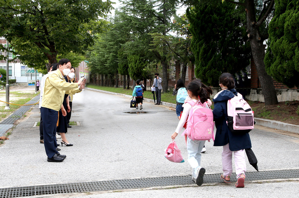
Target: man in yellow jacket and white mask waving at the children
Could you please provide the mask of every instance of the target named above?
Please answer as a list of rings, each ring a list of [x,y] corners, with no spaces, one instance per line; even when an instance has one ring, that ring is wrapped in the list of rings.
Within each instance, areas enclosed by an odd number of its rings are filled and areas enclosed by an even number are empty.
[[[62,162],[65,155],[60,155],[56,142],[56,123],[58,111],[61,108],[65,91],[80,92],[85,87],[86,79],[80,79],[78,83],[66,82],[64,76],[68,75],[71,68],[69,59],[61,59],[58,68],[49,74],[45,80],[40,114],[43,120],[44,146],[48,156],[48,162]],[[80,86],[80,87],[78,87]]]

